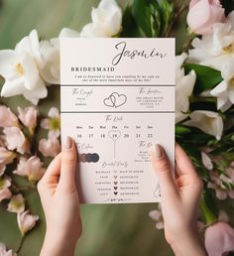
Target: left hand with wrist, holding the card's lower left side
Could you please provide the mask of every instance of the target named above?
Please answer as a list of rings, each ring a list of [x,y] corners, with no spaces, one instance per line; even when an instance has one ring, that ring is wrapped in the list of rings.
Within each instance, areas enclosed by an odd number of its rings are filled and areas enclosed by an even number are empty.
[[[77,150],[65,138],[61,153],[53,160],[38,191],[45,211],[47,232],[40,256],[71,256],[82,225],[75,184]]]

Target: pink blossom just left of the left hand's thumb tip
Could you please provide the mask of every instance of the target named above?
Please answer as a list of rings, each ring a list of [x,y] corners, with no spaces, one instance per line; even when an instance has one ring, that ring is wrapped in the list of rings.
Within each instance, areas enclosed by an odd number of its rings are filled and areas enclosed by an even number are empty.
[[[45,157],[56,157],[60,152],[60,143],[55,134],[49,134],[48,140],[42,139],[39,142],[39,151]]]

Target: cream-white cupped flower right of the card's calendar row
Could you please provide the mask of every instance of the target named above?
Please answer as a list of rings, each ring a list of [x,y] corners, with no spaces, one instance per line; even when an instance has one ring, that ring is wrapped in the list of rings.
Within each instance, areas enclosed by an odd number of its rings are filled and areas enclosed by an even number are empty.
[[[223,133],[223,120],[221,116],[212,111],[196,110],[190,115],[190,120],[184,122],[184,125],[196,127],[204,133],[214,136],[220,140]]]

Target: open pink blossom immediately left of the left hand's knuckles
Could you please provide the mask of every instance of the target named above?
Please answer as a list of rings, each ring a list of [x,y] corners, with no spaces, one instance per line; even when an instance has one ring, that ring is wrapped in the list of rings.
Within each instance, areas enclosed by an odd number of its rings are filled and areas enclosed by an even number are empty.
[[[45,174],[46,169],[43,168],[43,163],[36,156],[30,159],[21,158],[17,166],[17,170],[13,172],[15,175],[28,177],[32,183],[38,182]]]

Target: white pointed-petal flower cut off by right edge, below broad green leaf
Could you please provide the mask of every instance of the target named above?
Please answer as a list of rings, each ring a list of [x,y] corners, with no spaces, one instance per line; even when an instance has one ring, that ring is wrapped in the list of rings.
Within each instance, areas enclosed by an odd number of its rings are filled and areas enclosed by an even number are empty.
[[[224,112],[234,104],[234,58],[223,65],[222,77],[224,80],[210,94],[217,97],[218,109]]]

